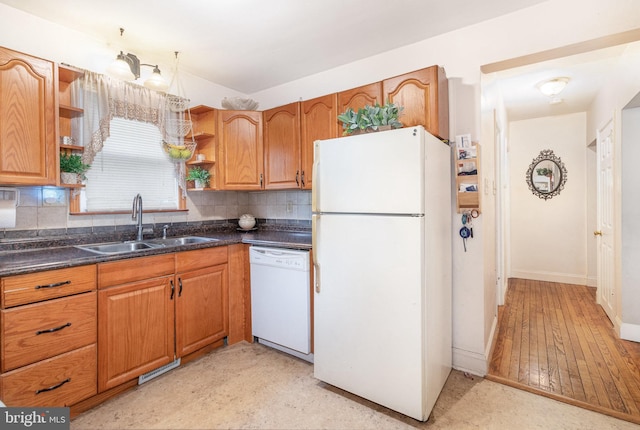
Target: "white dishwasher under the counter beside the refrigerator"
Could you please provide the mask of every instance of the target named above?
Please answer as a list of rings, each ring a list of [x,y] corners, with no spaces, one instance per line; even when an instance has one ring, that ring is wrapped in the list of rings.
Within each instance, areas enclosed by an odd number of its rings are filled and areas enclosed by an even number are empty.
[[[252,246],[249,260],[253,336],[313,362],[309,251]]]

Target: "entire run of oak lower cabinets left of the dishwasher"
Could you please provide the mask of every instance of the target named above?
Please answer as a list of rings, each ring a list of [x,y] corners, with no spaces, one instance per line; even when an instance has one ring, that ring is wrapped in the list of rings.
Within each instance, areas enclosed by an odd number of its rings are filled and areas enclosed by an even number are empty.
[[[71,406],[75,416],[176,357],[194,359],[227,338],[230,344],[250,340],[247,247],[0,279],[4,303],[20,305],[0,310],[0,400],[8,406]],[[50,300],[16,295],[20,288],[51,283],[78,286],[65,291],[72,295]],[[73,294],[96,284],[97,292]],[[39,330],[45,331],[34,335]]]

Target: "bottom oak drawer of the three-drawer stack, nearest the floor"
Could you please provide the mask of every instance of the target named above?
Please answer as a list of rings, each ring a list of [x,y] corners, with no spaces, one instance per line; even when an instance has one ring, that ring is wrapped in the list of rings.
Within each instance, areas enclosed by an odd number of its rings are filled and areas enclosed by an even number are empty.
[[[96,345],[6,373],[2,401],[7,406],[69,406],[97,393]],[[66,381],[66,382],[65,382]]]

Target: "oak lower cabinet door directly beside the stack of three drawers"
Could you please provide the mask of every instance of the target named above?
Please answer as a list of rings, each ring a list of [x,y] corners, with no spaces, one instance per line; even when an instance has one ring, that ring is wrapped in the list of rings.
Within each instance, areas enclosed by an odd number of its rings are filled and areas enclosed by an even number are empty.
[[[98,292],[98,391],[174,358],[173,277]]]

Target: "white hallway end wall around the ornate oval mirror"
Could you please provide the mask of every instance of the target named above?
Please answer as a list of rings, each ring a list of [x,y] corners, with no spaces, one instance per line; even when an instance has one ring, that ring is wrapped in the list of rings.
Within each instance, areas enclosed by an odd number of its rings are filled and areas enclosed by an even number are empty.
[[[586,283],[586,113],[513,121],[509,125],[511,277]],[[562,159],[564,190],[540,199],[525,173],[543,149]]]

